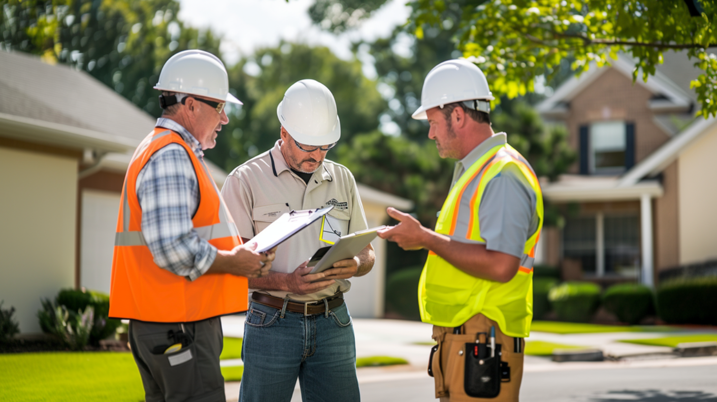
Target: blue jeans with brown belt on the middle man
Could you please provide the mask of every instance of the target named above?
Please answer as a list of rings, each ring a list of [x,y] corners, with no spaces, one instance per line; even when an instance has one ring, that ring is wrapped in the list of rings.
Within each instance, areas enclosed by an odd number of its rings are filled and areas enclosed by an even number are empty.
[[[239,402],[360,401],[356,342],[346,304],[304,316],[252,302],[244,324]]]

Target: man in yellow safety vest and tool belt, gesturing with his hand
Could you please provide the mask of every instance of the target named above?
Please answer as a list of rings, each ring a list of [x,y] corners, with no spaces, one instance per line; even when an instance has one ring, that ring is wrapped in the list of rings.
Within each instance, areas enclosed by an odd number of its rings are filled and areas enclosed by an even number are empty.
[[[467,60],[428,73],[413,118],[428,120],[441,157],[458,159],[452,188],[435,231],[389,207],[399,224],[379,232],[405,250],[429,250],[418,299],[434,324],[429,374],[441,401],[518,401],[523,377],[543,199],[530,164],[493,132],[492,100]]]

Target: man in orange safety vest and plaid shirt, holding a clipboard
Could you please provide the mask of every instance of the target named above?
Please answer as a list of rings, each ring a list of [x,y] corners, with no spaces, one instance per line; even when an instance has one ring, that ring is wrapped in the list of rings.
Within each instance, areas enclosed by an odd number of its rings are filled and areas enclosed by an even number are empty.
[[[247,310],[247,278],[274,250],[242,245],[204,164],[229,122],[224,64],[211,53],[172,56],[154,87],[162,117],[132,156],[115,235],[110,317],[129,319],[146,401],[226,401],[219,317]]]

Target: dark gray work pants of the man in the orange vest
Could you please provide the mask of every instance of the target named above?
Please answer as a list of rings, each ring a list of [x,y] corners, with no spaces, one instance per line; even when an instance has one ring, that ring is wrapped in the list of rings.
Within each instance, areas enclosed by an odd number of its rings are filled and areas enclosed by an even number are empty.
[[[182,332],[180,324],[130,320],[129,340],[142,377],[146,402],[227,401],[219,355],[224,346],[219,317],[184,323],[189,345],[163,351],[175,340],[168,332]]]

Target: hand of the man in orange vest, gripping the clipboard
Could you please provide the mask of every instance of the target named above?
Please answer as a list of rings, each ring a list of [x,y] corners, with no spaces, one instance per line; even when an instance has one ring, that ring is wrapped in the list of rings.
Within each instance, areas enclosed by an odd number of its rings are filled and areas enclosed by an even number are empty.
[[[247,278],[260,278],[271,269],[276,247],[265,253],[257,253],[256,243],[241,244],[231,251],[218,250],[217,258],[206,271],[207,274],[232,274]]]

